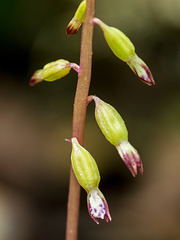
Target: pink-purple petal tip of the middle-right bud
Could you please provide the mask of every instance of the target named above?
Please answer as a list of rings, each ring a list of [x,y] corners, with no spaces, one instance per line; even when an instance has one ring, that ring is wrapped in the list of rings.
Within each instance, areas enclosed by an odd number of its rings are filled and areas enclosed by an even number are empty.
[[[123,162],[129,168],[133,177],[137,175],[137,168],[143,174],[143,165],[137,150],[126,140],[119,143],[116,147]]]

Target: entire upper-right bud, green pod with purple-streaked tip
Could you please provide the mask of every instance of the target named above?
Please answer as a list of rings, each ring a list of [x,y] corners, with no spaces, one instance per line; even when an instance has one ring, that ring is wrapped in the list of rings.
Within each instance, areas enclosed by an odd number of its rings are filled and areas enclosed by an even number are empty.
[[[119,29],[110,27],[100,19],[94,18],[93,23],[100,26],[104,33],[107,44],[113,53],[122,61],[126,62],[133,72],[149,86],[154,85],[154,79],[148,66],[135,53],[135,47],[130,39]]]

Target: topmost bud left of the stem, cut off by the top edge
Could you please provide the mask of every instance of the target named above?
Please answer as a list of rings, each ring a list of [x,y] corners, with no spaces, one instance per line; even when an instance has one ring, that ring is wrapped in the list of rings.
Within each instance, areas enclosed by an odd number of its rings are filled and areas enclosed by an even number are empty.
[[[76,10],[74,17],[69,22],[69,24],[66,28],[67,36],[77,33],[81,24],[84,21],[85,12],[86,12],[86,0],[83,0],[80,3],[78,9]]]

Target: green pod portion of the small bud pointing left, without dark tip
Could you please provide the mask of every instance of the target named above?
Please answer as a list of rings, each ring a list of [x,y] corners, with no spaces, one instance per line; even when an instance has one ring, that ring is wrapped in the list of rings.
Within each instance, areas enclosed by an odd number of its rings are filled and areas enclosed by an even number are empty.
[[[42,77],[45,81],[52,82],[66,76],[71,70],[71,64],[60,59],[55,62],[48,63],[42,70]]]

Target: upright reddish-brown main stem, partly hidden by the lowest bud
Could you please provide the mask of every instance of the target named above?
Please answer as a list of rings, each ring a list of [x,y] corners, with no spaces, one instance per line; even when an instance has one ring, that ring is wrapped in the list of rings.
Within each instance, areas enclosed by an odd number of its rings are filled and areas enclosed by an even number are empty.
[[[84,143],[84,127],[86,118],[86,103],[91,81],[92,67],[92,37],[95,0],[86,1],[86,14],[82,28],[81,54],[80,54],[80,73],[76,88],[73,111],[73,133],[81,145]],[[66,240],[77,240],[78,218],[79,218],[80,186],[74,176],[73,170],[70,171]]]

